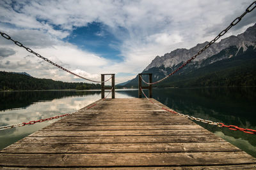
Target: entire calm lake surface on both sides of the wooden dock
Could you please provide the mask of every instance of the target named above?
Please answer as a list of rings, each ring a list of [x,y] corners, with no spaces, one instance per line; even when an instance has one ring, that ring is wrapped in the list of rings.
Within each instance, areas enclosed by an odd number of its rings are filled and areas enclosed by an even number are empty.
[[[116,98],[138,90],[116,90]],[[153,97],[179,113],[227,125],[256,129],[256,88],[153,89]],[[0,92],[0,126],[72,113],[100,99],[100,91]],[[0,149],[56,120],[0,131]],[[198,123],[256,157],[256,135]]]

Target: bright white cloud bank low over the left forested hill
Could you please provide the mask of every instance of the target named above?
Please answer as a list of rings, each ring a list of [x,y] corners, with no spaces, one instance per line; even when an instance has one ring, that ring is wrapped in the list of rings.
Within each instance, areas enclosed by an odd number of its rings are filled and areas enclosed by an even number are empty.
[[[37,78],[52,78],[60,81],[84,81],[81,78],[74,78],[72,74],[62,71],[58,67],[32,55],[24,48],[13,45],[13,49],[15,49],[17,53],[8,57],[8,60],[5,58],[1,60],[1,70],[16,72],[26,71]],[[102,59],[102,57],[93,55],[92,53],[79,50],[77,46],[69,43],[45,48],[35,48],[33,50],[52,62],[93,80],[100,80],[98,71],[109,63],[108,60]]]

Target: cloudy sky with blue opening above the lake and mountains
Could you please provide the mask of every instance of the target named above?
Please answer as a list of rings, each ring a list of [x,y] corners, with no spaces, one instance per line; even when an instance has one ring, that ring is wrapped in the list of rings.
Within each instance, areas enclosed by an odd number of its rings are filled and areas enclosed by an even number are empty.
[[[93,80],[131,80],[157,56],[211,41],[252,0],[0,0],[0,31],[47,59]],[[248,13],[225,37],[255,24]],[[0,36],[0,71],[84,81]]]

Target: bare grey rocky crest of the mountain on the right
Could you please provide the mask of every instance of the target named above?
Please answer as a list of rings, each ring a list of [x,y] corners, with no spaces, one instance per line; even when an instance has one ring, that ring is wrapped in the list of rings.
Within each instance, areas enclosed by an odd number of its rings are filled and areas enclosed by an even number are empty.
[[[164,54],[162,57],[157,56],[152,62],[144,69],[147,71],[152,67],[172,67],[180,62],[188,60],[190,57],[195,55],[200,49],[204,48],[209,43],[198,43],[196,46],[190,48],[177,48],[170,53]],[[237,48],[243,47],[243,50],[247,49],[247,46],[256,45],[256,24],[246,29],[245,32],[237,36],[229,36],[228,38],[221,39],[219,43],[212,44],[207,50],[196,57],[195,61],[200,61],[211,57],[212,55],[219,53],[221,50],[228,48],[229,46],[237,46]],[[239,51],[238,50],[238,51]],[[238,52],[237,51],[237,52]]]

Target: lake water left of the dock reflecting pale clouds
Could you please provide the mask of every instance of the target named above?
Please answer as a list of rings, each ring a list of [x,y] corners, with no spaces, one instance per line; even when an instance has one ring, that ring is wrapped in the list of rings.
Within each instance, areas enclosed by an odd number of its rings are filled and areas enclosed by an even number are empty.
[[[131,92],[131,90],[127,90]],[[106,92],[105,95],[107,95]],[[97,91],[29,91],[29,92],[0,92],[0,126],[19,124],[42,118],[54,117],[65,113],[72,113],[101,97]],[[116,92],[116,97],[131,97],[125,92]],[[0,131],[0,149],[11,145],[15,141],[52,124],[56,120],[26,125]]]

